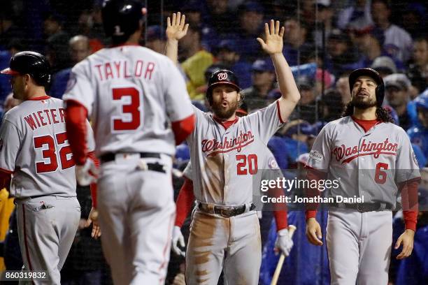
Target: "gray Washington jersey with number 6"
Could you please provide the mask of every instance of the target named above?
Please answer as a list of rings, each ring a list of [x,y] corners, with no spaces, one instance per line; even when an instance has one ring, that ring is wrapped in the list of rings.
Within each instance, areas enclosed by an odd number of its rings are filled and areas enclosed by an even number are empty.
[[[307,166],[329,173],[340,187],[329,196],[362,197],[395,205],[397,184],[420,177],[406,131],[380,123],[364,132],[351,117],[329,122],[316,138]]]

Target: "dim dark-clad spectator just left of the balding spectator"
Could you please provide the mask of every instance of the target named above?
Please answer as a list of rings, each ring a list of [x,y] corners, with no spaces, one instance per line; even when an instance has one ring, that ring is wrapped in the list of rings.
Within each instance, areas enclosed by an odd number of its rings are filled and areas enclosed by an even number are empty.
[[[63,19],[55,13],[46,13],[43,20],[43,32],[48,43],[46,58],[48,59],[52,73],[55,73],[70,65],[69,34],[64,31]]]

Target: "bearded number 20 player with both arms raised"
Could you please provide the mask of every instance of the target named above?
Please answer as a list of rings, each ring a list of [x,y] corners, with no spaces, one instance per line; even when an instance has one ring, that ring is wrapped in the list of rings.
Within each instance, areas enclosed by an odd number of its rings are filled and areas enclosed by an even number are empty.
[[[276,68],[281,98],[239,118],[238,79],[231,71],[220,70],[211,75],[206,92],[213,115],[195,108],[196,127],[187,138],[197,200],[186,251],[187,284],[217,284],[222,269],[228,284],[258,284],[262,249],[252,176],[263,165],[269,138],[300,98],[282,53],[283,34],[279,21],[271,20],[265,24],[265,40],[257,38]],[[168,42],[167,49],[173,44],[171,38]],[[287,228],[278,233],[291,243]]]

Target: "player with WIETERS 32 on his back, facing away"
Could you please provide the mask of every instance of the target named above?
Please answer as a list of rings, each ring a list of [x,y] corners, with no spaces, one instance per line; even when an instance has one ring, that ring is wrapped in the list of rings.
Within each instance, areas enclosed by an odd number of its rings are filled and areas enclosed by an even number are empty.
[[[35,284],[60,284],[80,219],[63,101],[45,93],[50,66],[42,54],[18,52],[1,73],[12,76],[13,97],[23,102],[1,124],[0,188],[15,197],[23,270],[47,271]]]

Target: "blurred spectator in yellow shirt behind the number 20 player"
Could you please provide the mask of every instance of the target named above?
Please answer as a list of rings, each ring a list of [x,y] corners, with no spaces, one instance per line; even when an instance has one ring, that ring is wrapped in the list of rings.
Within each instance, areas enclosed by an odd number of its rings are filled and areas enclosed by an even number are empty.
[[[213,54],[204,50],[201,45],[201,31],[189,26],[187,34],[180,40],[179,50],[185,61],[181,64],[187,77],[187,92],[192,100],[203,100],[205,97],[205,71],[213,64]]]

